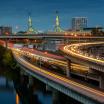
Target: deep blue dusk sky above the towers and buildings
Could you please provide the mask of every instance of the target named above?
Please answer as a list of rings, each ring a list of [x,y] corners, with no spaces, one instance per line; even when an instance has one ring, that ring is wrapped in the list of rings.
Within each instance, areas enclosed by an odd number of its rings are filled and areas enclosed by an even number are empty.
[[[104,0],[0,0],[0,25],[26,30],[31,12],[34,28],[52,30],[56,10],[63,29],[70,28],[71,18],[79,16],[88,17],[90,27],[104,26]]]

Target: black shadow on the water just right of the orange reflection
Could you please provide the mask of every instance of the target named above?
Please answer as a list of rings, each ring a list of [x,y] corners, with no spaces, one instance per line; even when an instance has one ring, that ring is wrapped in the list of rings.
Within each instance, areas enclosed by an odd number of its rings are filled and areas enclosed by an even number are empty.
[[[41,104],[38,96],[33,94],[33,88],[28,84],[28,76],[20,76],[13,83],[22,104]]]

